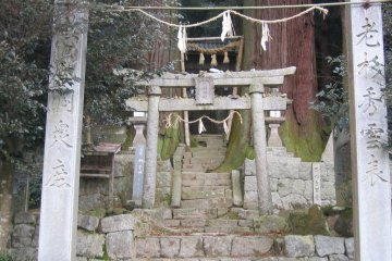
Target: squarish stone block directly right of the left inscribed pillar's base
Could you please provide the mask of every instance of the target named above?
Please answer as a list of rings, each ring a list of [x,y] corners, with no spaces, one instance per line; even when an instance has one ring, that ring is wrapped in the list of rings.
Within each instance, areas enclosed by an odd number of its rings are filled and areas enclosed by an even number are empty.
[[[103,256],[103,235],[77,232],[77,256],[86,258],[101,258]]]

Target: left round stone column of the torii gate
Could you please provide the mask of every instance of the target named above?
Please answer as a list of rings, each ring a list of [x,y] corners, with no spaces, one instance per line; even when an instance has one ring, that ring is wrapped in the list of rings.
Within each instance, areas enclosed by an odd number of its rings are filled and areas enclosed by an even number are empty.
[[[143,191],[143,208],[152,209],[157,185],[159,99],[162,91],[159,86],[148,89],[147,145]]]

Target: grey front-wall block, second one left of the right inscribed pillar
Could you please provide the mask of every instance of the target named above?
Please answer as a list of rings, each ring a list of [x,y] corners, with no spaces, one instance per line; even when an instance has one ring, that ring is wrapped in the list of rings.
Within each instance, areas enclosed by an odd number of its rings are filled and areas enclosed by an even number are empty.
[[[315,245],[320,257],[345,252],[344,238],[342,237],[315,236]]]

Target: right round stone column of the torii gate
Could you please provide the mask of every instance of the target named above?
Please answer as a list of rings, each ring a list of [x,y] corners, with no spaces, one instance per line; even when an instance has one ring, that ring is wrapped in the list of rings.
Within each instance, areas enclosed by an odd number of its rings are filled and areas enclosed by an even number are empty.
[[[258,206],[260,214],[272,211],[271,189],[267,170],[267,135],[266,117],[264,111],[264,85],[257,78],[249,88],[252,102],[252,125],[254,135],[254,149],[256,152],[256,182],[258,190]]]

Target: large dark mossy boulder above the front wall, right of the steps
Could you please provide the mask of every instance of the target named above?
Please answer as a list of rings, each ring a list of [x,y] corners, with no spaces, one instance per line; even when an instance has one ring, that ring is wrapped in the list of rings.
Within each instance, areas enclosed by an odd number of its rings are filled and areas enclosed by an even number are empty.
[[[289,232],[297,235],[330,235],[327,217],[318,206],[313,206],[308,212],[291,213]]]

